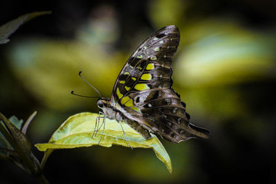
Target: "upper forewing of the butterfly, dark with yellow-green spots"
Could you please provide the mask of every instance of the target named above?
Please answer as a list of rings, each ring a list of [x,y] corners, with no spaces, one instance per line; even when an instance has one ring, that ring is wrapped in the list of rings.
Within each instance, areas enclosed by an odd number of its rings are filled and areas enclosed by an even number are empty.
[[[172,85],[172,57],[179,45],[179,30],[175,25],[161,28],[146,39],[124,65],[112,90],[111,104],[133,92]],[[125,100],[123,100],[125,102]]]

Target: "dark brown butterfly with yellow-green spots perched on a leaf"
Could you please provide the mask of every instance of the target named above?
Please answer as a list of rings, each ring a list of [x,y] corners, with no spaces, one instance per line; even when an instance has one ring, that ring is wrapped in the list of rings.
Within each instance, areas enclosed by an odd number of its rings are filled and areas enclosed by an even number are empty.
[[[119,73],[111,98],[97,101],[105,117],[128,123],[145,139],[150,132],[172,143],[208,139],[209,131],[190,123],[186,104],[172,89],[172,57],[179,39],[178,28],[168,25],[139,45]]]

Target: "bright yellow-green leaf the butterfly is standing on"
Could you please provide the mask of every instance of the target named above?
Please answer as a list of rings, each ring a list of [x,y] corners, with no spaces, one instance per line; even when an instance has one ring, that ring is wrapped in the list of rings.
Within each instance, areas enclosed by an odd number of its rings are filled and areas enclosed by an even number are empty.
[[[103,147],[122,145],[128,147],[129,143],[131,147],[151,148],[154,150],[157,158],[166,165],[170,173],[172,172],[170,156],[168,156],[168,153],[159,139],[157,139],[157,136],[153,134],[152,138],[146,140],[126,123],[122,123],[124,132],[126,133],[126,139],[128,140],[127,143],[124,133],[121,130],[121,125],[115,120],[106,119],[104,131],[102,131],[102,125],[97,135],[91,138],[95,129],[97,116],[98,114],[90,112],[82,112],[70,116],[58,130],[52,134],[48,143],[36,144],[35,146],[39,151],[46,152],[56,149],[89,147],[92,145],[101,145]]]

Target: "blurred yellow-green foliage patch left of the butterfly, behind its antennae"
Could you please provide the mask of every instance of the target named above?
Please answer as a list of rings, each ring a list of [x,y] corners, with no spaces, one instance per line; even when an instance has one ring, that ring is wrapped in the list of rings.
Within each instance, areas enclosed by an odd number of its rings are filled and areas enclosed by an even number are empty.
[[[88,85],[81,82],[79,70],[90,83],[105,94],[107,90],[112,90],[112,79],[117,75],[116,69],[120,70],[120,65],[115,61],[125,60],[119,53],[108,55],[103,48],[78,41],[39,39],[15,45],[10,50],[10,56],[12,70],[26,88],[49,108],[61,111],[77,109],[80,105],[88,107],[91,103],[87,100],[78,103],[79,99],[70,94],[75,89],[91,94]],[[108,75],[101,78],[105,72]],[[97,96],[97,93],[92,96]]]

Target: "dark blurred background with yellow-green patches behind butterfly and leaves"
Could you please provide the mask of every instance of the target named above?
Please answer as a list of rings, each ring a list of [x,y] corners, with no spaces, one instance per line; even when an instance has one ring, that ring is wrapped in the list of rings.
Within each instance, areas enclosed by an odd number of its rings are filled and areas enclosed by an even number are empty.
[[[0,24],[52,11],[0,45],[0,112],[26,121],[37,110],[27,134],[32,143],[47,142],[72,114],[98,112],[94,100],[70,95],[93,95],[79,70],[110,96],[137,45],[170,24],[181,32],[173,87],[191,121],[211,132],[208,141],[161,140],[171,175],[152,150],[58,150],[46,163],[50,183],[276,182],[275,1],[6,1],[1,7]],[[9,161],[0,168],[0,183],[36,182]]]

